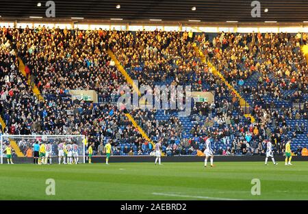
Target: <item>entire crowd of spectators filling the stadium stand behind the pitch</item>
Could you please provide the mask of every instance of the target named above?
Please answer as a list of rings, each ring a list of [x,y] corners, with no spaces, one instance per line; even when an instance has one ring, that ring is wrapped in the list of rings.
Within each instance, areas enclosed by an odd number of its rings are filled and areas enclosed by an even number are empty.
[[[157,120],[155,110],[130,111],[153,141],[163,139],[166,155],[196,155],[209,135],[219,155],[264,155],[266,140],[282,155],[286,139],[307,135],[307,64],[298,49],[301,35],[222,32],[212,37],[186,31],[0,28],[3,132],[84,134],[95,142],[96,154],[102,152],[101,143],[112,138],[115,155],[149,154],[151,143],[111,104],[125,79],[107,54],[110,48],[140,85],[192,85],[194,91],[213,92],[214,103],[194,105],[191,129],[173,111],[165,111],[168,120]],[[194,44],[227,81],[252,100],[255,122],[244,117],[238,99],[201,62]],[[23,60],[27,77],[19,72],[17,57]],[[247,84],[255,74],[258,81]],[[38,101],[27,85],[28,77],[44,97],[53,94],[53,98]],[[104,104],[72,101],[68,95],[72,89],[96,90]],[[277,106],[265,101],[267,96],[290,105]],[[304,105],[292,105],[302,100]],[[300,119],[296,126],[286,122]]]

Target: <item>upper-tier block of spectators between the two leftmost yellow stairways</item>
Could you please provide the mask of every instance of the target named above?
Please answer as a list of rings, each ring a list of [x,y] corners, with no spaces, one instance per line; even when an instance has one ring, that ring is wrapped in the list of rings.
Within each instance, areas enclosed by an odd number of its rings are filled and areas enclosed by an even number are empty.
[[[14,38],[26,70],[42,94],[67,94],[72,88],[96,90],[107,102],[124,83],[107,54],[107,34],[112,33],[39,26],[16,30]]]

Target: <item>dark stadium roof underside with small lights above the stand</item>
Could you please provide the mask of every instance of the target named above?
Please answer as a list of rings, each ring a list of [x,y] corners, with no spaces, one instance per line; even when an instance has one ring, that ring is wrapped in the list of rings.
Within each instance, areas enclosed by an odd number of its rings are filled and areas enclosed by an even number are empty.
[[[37,5],[39,2],[40,7]],[[123,18],[123,22],[150,19],[169,22],[193,20],[201,23],[226,23],[227,21],[303,23],[308,21],[307,0],[259,0],[261,3],[259,18],[251,16],[253,8],[252,1],[249,0],[55,0],[54,2],[57,21],[71,20],[71,17],[84,18],[83,21],[110,21],[110,18]],[[25,20],[29,16],[45,17],[47,9],[45,3],[46,1],[40,0],[0,0],[0,21]],[[120,5],[120,8],[117,9],[116,5]],[[192,10],[192,7],[196,7],[196,10]],[[264,12],[266,8],[268,12]]]

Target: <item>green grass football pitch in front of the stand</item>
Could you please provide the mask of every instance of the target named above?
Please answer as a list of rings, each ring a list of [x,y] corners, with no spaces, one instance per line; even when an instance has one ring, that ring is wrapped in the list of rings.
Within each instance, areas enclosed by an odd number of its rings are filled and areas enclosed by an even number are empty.
[[[0,165],[1,200],[308,200],[308,162]],[[55,195],[47,196],[55,180]],[[253,178],[260,195],[253,195]]]

